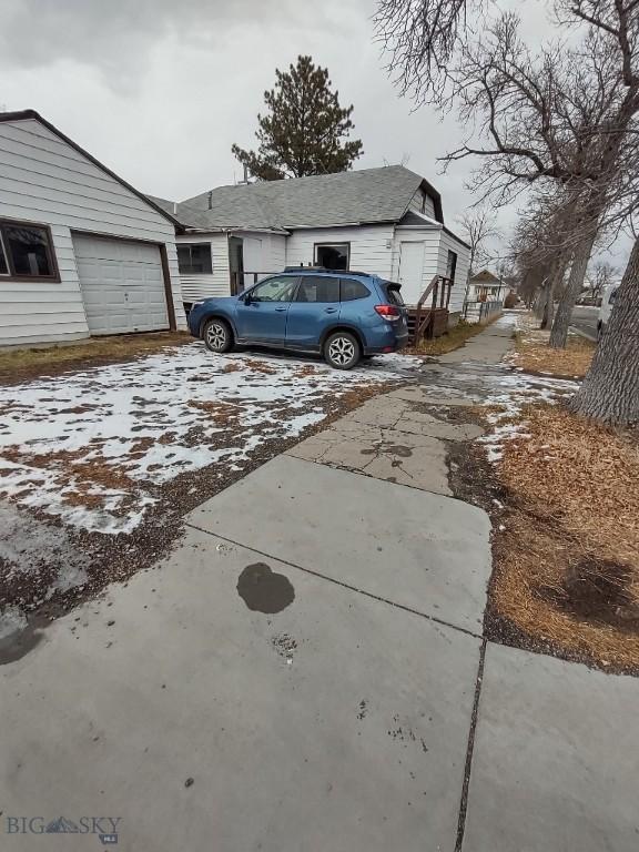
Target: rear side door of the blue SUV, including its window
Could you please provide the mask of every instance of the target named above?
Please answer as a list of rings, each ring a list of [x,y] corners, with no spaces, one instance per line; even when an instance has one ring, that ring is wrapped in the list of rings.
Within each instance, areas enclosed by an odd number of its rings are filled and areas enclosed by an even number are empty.
[[[320,349],[324,331],[339,317],[339,278],[304,275],[288,308],[286,345]]]

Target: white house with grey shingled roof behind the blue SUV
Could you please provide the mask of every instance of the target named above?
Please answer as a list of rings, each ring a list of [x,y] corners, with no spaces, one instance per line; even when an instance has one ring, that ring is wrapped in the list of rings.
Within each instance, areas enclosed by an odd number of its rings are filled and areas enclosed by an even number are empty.
[[[150,197],[181,223],[187,307],[285,266],[321,265],[398,281],[408,305],[448,277],[449,311],[462,311],[469,248],[444,225],[439,193],[402,165],[219,186],[179,204]]]

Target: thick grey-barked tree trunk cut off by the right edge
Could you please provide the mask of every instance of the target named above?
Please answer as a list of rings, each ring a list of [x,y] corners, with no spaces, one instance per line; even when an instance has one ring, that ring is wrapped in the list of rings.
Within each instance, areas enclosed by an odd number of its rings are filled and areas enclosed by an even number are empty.
[[[639,422],[639,239],[588,375],[570,408],[612,425]]]

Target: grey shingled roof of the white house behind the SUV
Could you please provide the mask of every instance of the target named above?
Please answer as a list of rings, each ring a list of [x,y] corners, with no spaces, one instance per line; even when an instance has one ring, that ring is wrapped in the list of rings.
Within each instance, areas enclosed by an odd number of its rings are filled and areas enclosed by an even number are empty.
[[[166,205],[185,227],[281,231],[399,222],[419,187],[433,199],[443,223],[439,193],[403,165],[219,186],[186,199],[176,212],[172,202],[154,202]]]

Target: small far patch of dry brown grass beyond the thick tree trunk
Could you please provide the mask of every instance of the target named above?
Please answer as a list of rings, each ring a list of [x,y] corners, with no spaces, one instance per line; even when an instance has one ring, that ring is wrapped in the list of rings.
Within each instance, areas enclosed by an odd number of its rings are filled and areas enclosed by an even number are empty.
[[[527,373],[582,378],[592,361],[595,344],[571,335],[565,349],[551,349],[548,346],[549,336],[549,332],[519,333],[511,363]]]

